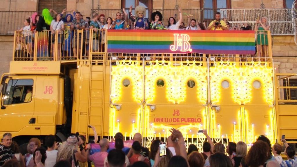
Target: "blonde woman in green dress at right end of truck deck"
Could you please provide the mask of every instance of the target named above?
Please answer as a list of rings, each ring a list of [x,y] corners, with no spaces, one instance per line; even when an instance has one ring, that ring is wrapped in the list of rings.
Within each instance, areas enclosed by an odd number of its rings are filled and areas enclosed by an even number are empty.
[[[267,31],[270,26],[268,24],[267,17],[261,17],[261,20],[257,19],[255,24],[255,31],[257,31],[257,56],[267,57],[268,56],[268,37]]]

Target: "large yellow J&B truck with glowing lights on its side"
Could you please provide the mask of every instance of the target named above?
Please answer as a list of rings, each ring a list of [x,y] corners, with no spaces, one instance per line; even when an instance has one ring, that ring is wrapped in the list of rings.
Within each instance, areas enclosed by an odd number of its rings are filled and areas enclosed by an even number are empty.
[[[172,127],[181,130],[188,145],[200,150],[205,141],[198,133],[202,129],[223,144],[251,144],[259,135],[266,135],[272,143],[282,135],[291,143],[297,141],[297,100],[290,94],[297,89],[290,84],[296,74],[274,73],[269,31],[268,49],[262,51],[266,57],[242,52],[236,42],[232,53],[199,53],[199,47],[206,52],[205,43],[212,45],[203,42],[209,38],[168,31],[167,41],[158,42],[164,32],[151,30],[75,31],[83,37],[80,49],[75,48],[76,56],[72,49],[65,52],[65,41],[50,44],[54,50],[49,56],[49,44],[42,40],[50,40],[38,33],[30,53],[26,42],[21,50],[15,50],[15,42],[10,72],[2,75],[0,136],[10,132],[21,142],[56,134],[64,140],[79,132],[89,139],[94,134],[87,125],[94,125],[101,138],[111,139],[121,132],[129,139],[139,132],[146,146],[156,138],[166,141]],[[240,31],[228,35],[237,36],[238,43],[252,41],[245,48],[255,49],[257,32],[249,33],[251,38]],[[93,39],[96,34],[99,40]],[[210,34],[204,31],[201,35]],[[16,31],[15,40],[20,36]],[[165,49],[158,51],[153,43],[145,51],[117,50],[141,41],[149,43],[149,39]],[[31,99],[26,101],[30,91]]]

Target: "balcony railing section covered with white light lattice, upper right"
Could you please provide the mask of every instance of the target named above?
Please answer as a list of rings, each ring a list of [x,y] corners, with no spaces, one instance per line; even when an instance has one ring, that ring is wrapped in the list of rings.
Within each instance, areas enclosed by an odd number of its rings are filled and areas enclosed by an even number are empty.
[[[221,9],[231,26],[255,27],[256,19],[266,16],[271,35],[295,35],[292,9]]]

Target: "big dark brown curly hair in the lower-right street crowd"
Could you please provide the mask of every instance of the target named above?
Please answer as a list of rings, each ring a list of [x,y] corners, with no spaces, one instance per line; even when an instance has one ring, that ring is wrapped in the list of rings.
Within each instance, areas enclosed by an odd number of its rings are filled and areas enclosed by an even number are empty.
[[[264,163],[271,157],[268,152],[269,146],[266,142],[258,140],[249,149],[249,152],[245,158],[245,163],[250,167],[258,167],[264,165]]]

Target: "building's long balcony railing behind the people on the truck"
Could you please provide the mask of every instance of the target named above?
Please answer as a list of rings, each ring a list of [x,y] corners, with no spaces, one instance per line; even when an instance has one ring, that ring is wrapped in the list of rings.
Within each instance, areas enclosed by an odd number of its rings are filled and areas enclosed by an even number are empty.
[[[120,9],[99,9],[95,10],[99,14],[104,14],[105,18],[116,18],[116,13]],[[168,19],[176,15],[175,9],[147,9],[146,17],[150,19],[151,12],[160,11],[163,14],[163,23],[167,25]],[[183,9],[184,23],[187,26],[188,20],[186,14],[192,15],[198,22],[206,22],[206,26],[214,18],[215,12],[220,11],[222,19],[226,19],[231,26],[255,26],[257,17],[266,16],[271,26],[271,35],[295,35],[296,21],[294,22],[294,12],[292,9]],[[59,11],[57,11],[59,12]],[[128,9],[126,9],[128,12]],[[133,10],[134,12],[134,10]],[[23,27],[23,22],[34,12],[0,12],[0,35],[12,35],[14,31]],[[71,12],[67,12],[71,13]]]

